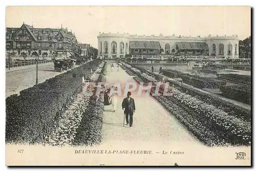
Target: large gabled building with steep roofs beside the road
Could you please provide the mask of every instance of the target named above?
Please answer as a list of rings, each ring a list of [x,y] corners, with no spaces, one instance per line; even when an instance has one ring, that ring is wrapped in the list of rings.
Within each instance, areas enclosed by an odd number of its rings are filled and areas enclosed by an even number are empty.
[[[20,28],[6,28],[6,52],[16,57],[75,56],[78,52],[76,36],[68,29],[34,28],[23,24]]]

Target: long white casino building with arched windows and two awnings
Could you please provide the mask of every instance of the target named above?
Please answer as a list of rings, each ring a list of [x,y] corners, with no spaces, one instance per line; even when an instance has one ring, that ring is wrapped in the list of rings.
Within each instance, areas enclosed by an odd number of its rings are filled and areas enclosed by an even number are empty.
[[[208,37],[131,35],[99,33],[98,56],[104,58],[171,57],[174,55],[208,58],[238,58],[237,35]]]

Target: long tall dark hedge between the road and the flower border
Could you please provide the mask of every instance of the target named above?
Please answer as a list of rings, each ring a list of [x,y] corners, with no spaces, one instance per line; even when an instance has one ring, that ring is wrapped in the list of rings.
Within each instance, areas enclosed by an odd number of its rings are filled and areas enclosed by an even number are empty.
[[[78,68],[48,79],[20,95],[6,98],[6,142],[41,143],[54,129],[58,116],[81,91],[81,76],[100,60],[90,61]]]

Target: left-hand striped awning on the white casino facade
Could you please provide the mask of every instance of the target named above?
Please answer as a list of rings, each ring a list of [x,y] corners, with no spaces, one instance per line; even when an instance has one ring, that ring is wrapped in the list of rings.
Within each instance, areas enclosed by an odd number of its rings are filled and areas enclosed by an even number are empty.
[[[130,49],[161,49],[159,41],[130,41]]]

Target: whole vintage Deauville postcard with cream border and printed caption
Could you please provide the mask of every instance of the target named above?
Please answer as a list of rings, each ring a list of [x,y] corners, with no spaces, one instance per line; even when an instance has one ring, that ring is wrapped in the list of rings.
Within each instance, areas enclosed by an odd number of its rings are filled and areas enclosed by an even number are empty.
[[[6,7],[6,165],[250,166],[251,7]]]

